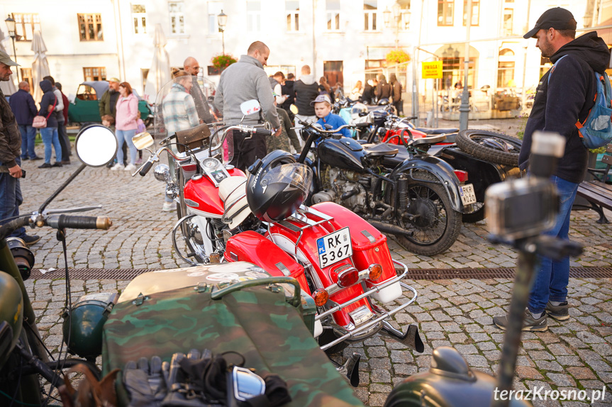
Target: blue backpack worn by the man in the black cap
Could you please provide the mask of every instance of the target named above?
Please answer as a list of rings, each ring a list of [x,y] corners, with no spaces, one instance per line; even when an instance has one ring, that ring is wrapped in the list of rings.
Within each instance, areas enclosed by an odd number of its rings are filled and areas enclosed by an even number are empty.
[[[555,62],[555,65],[552,65],[548,74],[548,83],[550,83],[550,75],[555,71],[555,66],[566,56],[563,55]],[[612,141],[612,87],[605,72],[603,74],[594,72],[594,75],[597,83],[595,104],[584,123],[576,122],[580,140],[584,147],[589,149],[603,147]]]

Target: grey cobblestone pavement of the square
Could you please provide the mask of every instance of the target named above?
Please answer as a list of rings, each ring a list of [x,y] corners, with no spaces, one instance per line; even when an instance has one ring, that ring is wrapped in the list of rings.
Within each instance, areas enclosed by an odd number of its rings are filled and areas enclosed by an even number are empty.
[[[42,151],[39,152],[39,154]],[[77,161],[73,157],[73,161]],[[60,169],[38,169],[38,162],[25,162],[28,179],[22,181],[22,212],[31,211],[50,196],[76,164]],[[111,216],[109,231],[69,230],[67,237],[69,267],[75,268],[171,268],[184,264],[174,254],[169,231],[175,213],[164,213],[164,186],[151,175],[130,177],[123,171],[87,168],[50,205],[51,208],[101,204],[90,214]],[[608,213],[612,218],[612,214]],[[572,239],[585,245],[584,254],[573,259],[574,266],[612,264],[612,225],[596,223],[592,211],[572,213]],[[28,233],[42,236],[33,246],[35,267],[63,266],[61,245],[50,229]],[[464,225],[460,238],[450,250],[435,257],[416,256],[393,240],[393,257],[410,268],[514,267],[517,254],[505,246],[486,240],[485,223]],[[60,313],[65,301],[65,281],[59,271],[46,274],[49,279],[28,280],[38,323],[45,342],[51,348],[61,342]],[[494,373],[499,363],[503,333],[491,322],[491,316],[503,313],[511,296],[508,279],[452,279],[450,281],[412,281],[419,294],[416,304],[396,315],[400,327],[418,323],[425,352],[406,350],[399,342],[372,338],[353,344],[345,352],[359,352],[362,357],[362,384],[356,394],[369,406],[382,406],[386,395],[398,381],[409,374],[428,369],[433,347],[452,345],[469,365]],[[72,299],[96,291],[121,291],[128,281],[104,279],[72,280]],[[571,318],[562,323],[549,319],[545,333],[525,333],[518,359],[516,388],[552,389],[606,388],[606,402],[612,403],[612,279],[571,279],[569,304]],[[584,403],[535,401],[535,406],[580,406]],[[586,404],[584,404],[586,405]],[[611,405],[611,404],[606,404]]]

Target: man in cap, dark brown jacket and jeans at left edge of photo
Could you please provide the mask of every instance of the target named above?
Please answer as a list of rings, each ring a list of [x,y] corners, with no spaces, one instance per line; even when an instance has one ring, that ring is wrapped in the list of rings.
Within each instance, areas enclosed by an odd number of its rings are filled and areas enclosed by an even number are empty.
[[[11,67],[15,66],[17,63],[6,52],[0,51],[0,81],[9,81],[13,74]],[[0,90],[0,223],[19,216],[19,205],[23,202],[19,179],[25,176],[20,154],[21,132],[11,106]],[[36,235],[26,235],[26,228],[18,228],[11,236],[23,239],[28,246],[40,240]]]

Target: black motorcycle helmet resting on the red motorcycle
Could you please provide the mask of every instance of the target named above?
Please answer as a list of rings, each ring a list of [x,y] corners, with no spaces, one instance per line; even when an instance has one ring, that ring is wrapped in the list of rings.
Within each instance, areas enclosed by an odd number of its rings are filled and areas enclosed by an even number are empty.
[[[282,150],[255,161],[249,172],[247,202],[252,213],[265,222],[291,216],[308,196],[312,182],[312,170]]]

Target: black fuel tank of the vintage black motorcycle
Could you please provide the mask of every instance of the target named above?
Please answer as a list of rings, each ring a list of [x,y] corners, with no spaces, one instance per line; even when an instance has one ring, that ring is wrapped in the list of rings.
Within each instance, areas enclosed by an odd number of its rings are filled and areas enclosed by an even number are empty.
[[[341,169],[365,171],[363,165],[365,150],[352,138],[343,137],[340,140],[328,138],[318,144],[316,152],[324,164]]]

